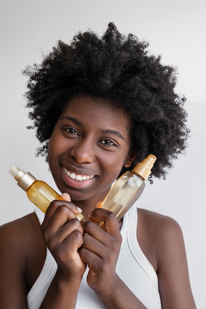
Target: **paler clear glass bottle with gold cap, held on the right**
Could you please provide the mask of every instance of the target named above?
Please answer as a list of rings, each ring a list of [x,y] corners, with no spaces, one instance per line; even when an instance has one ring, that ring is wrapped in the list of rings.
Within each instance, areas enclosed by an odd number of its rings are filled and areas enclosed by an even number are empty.
[[[137,163],[132,171],[125,172],[106,195],[100,207],[112,211],[118,220],[122,219],[127,210],[138,199],[145,187],[145,180],[151,174],[156,156],[149,154],[142,162]],[[95,222],[99,227],[104,223]]]

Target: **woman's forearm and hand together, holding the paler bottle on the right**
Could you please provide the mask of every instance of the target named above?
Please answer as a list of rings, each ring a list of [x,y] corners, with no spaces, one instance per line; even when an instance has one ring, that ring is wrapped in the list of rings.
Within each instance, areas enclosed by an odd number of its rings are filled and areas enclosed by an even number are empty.
[[[95,209],[90,217],[104,221],[104,230],[93,222],[83,222],[82,260],[88,264],[87,283],[99,296],[107,309],[145,309],[116,273],[122,236],[116,216]]]

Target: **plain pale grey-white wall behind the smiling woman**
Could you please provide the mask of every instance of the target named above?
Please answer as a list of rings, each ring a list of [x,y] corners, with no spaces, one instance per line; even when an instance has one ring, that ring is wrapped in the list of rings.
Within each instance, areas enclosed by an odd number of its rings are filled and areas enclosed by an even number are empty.
[[[33,204],[8,173],[12,164],[56,189],[24,108],[21,70],[41,62],[58,39],[87,28],[100,35],[113,21],[120,32],[150,42],[149,50],[178,69],[177,91],[187,97],[191,138],[167,179],[149,183],[142,208],[173,217],[182,227],[193,294],[205,308],[206,277],[206,1],[205,0],[1,0],[0,2],[0,224],[31,211]]]

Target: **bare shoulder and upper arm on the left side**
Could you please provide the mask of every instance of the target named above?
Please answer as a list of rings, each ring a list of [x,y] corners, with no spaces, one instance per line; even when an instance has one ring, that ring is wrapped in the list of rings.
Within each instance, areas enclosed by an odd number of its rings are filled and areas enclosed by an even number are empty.
[[[41,227],[35,213],[0,226],[2,308],[27,308],[27,293],[40,272],[44,258],[42,244]],[[36,262],[37,257],[41,263]]]

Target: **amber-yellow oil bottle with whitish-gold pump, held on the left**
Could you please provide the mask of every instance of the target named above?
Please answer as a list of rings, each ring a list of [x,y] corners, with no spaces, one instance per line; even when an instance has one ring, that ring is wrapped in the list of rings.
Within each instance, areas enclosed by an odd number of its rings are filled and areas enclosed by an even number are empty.
[[[16,179],[17,185],[26,191],[28,198],[44,213],[52,200],[64,200],[44,181],[37,180],[32,174],[26,173],[16,165],[11,166],[9,173]],[[79,221],[83,218],[82,214],[76,216]]]

